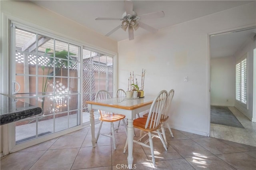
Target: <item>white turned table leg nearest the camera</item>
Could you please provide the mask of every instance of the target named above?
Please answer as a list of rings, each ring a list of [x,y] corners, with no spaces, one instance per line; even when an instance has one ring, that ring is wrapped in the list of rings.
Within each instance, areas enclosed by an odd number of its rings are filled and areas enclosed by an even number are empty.
[[[132,150],[133,150],[133,134],[134,134],[134,129],[133,129],[133,120],[128,119],[128,125],[127,125],[127,140],[128,140],[128,168],[132,169],[132,162],[133,162],[133,157],[132,157]]]

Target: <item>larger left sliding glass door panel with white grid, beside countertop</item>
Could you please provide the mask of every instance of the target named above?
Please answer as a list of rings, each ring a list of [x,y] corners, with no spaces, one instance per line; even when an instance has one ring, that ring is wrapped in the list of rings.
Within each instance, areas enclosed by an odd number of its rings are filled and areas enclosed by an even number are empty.
[[[42,108],[15,123],[16,144],[80,125],[80,48],[12,25],[12,95]]]

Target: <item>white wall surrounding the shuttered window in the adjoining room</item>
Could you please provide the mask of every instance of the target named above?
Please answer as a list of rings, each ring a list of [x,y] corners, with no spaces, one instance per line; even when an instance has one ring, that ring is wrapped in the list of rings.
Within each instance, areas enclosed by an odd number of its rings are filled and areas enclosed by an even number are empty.
[[[248,109],[240,105],[238,101],[235,100],[235,107],[240,110],[248,119],[251,121],[256,122],[256,115],[252,114],[252,107],[253,107],[253,84],[256,82],[253,82],[253,51],[254,48],[256,48],[256,42],[253,42],[253,37],[248,39],[246,44],[239,49],[236,54],[236,61],[239,61],[239,59],[247,53],[247,101],[248,101]],[[255,102],[255,101],[254,101]]]

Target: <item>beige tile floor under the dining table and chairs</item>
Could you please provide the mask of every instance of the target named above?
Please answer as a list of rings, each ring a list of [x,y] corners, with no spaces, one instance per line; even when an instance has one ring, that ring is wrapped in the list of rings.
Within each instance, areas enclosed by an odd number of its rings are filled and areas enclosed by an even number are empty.
[[[99,124],[96,125],[98,129]],[[102,131],[110,130],[104,125]],[[256,147],[228,140],[172,130],[166,133],[168,151],[154,138],[156,167],[150,148],[134,144],[134,169],[138,170],[255,170]],[[168,132],[168,131],[166,131]],[[136,130],[136,134],[139,131]],[[134,137],[136,138],[136,137]],[[117,149],[111,139],[100,136],[92,148],[90,127],[54,138],[1,158],[1,170],[118,170],[127,164],[123,153],[125,132],[116,133]],[[127,165],[126,165],[127,166]],[[123,168],[122,168],[123,167]],[[127,168],[126,168],[127,169]]]

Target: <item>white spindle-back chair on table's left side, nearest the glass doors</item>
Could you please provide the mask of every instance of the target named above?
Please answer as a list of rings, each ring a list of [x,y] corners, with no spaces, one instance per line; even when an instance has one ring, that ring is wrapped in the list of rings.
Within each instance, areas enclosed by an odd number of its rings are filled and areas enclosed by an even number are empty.
[[[96,93],[95,96],[96,100],[100,100],[100,99],[110,99],[110,93],[108,93],[108,91],[106,90],[100,90]],[[100,113],[100,127],[99,127],[99,131],[96,137],[96,142],[98,141],[98,138],[101,135],[103,136],[108,136],[113,138],[113,146],[114,146],[114,150],[116,150],[116,138],[115,138],[115,132],[118,131],[118,128],[114,128],[114,122],[116,121],[120,121],[122,120],[124,125],[125,125],[125,115],[120,115],[120,114],[115,114],[115,113],[111,113],[111,112],[107,112],[107,111],[101,111],[99,110]],[[104,134],[104,133],[100,133],[100,130],[102,128],[102,123],[103,122],[110,122],[111,123],[111,132],[109,134]],[[125,126],[125,132],[126,132],[126,136],[127,136],[127,128]]]

